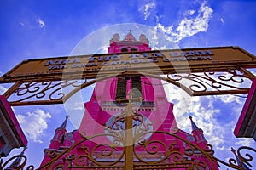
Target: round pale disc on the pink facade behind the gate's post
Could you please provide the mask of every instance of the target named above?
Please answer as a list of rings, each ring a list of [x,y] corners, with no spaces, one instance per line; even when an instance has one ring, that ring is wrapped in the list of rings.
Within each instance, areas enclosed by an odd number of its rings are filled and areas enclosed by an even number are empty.
[[[115,139],[118,139],[119,136],[125,137],[125,118],[119,117],[119,116],[111,116],[108,119],[108,122],[106,122],[106,129],[105,133],[111,134],[111,136],[108,136],[108,139],[110,141],[114,141]],[[133,136],[136,136],[137,133],[146,133],[146,132],[152,132],[153,126],[152,123],[149,121],[148,117],[137,114],[137,116],[133,116],[132,120],[132,132]],[[121,135],[118,135],[121,134]],[[152,133],[146,133],[142,135],[141,139],[147,140]],[[113,136],[112,136],[113,135]],[[117,136],[116,138],[114,136]],[[123,140],[123,139],[120,139]],[[137,142],[136,142],[137,143]],[[122,145],[122,144],[120,144]]]

